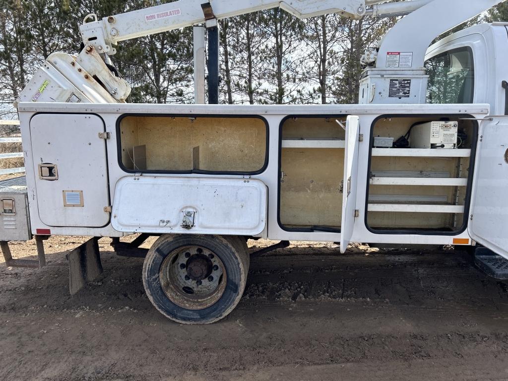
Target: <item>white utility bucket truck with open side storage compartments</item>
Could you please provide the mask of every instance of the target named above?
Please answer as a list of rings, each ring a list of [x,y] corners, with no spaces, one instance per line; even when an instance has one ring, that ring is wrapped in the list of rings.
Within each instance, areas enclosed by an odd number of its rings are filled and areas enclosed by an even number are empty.
[[[145,257],[146,294],[180,323],[235,307],[248,238],[280,241],[269,249],[340,242],[341,252],[481,245],[477,263],[506,276],[508,24],[429,48],[497,0],[203,2],[89,15],[83,50],[50,55],[26,85],[16,102],[26,184],[0,189],[9,266],[44,265],[49,235],[93,237],[68,255],[74,293],[102,271],[98,238],[112,237],[119,255]],[[125,103],[130,86],[109,60],[117,43],[279,6],[301,18],[405,15],[363,56],[360,104]],[[149,236],[160,237],[139,248]],[[33,237],[39,261],[12,259],[8,241]]]

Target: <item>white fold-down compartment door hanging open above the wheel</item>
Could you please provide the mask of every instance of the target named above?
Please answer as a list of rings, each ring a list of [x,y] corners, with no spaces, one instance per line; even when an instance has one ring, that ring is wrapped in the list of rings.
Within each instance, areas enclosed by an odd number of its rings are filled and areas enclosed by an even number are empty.
[[[266,226],[267,188],[259,180],[218,177],[123,177],[115,187],[118,231],[256,235]],[[194,211],[195,226],[182,225]]]

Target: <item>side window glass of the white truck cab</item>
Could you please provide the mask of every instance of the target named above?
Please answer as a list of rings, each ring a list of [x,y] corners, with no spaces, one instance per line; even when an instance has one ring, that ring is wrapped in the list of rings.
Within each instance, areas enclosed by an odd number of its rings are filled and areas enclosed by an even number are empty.
[[[474,63],[470,48],[448,51],[425,62],[427,103],[473,103]]]

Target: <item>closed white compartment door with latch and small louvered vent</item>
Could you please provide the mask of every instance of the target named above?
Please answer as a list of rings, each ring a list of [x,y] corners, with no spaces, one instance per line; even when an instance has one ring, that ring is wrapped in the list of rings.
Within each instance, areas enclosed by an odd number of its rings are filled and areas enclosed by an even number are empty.
[[[39,216],[54,227],[109,223],[103,120],[90,114],[37,114],[30,121]]]

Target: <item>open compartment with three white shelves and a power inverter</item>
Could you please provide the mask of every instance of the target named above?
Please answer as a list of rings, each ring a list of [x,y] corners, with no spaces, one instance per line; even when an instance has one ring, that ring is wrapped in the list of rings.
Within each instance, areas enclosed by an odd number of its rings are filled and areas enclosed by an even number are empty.
[[[367,227],[375,233],[463,231],[477,135],[477,122],[459,116],[374,121]],[[393,146],[373,147],[375,137],[393,138]]]

